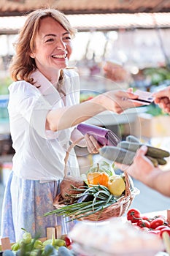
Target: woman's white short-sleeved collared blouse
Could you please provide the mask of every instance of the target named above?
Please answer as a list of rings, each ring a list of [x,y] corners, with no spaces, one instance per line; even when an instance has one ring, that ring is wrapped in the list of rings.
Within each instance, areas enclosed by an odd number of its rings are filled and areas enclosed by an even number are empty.
[[[80,102],[77,72],[66,69],[64,74],[65,97],[39,71],[32,75],[39,88],[24,80],[9,86],[9,124],[15,149],[12,170],[16,176],[42,182],[63,178],[64,158],[73,128],[52,132],[45,130],[45,121],[49,110]],[[80,175],[74,149],[68,163],[70,174]]]

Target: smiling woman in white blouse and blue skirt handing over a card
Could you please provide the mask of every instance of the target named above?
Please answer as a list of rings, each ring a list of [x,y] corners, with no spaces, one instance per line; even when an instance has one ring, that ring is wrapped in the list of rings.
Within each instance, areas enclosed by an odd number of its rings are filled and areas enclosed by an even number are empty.
[[[11,242],[21,238],[22,227],[33,237],[45,237],[45,227],[57,224],[68,232],[70,224],[66,227],[62,217],[42,215],[53,210],[69,141],[82,137],[76,125],[104,110],[121,113],[139,106],[123,100],[136,99],[131,91],[109,91],[80,104],[78,75],[66,69],[75,32],[58,10],[36,10],[28,15],[15,45],[8,106],[15,156],[1,219],[1,236]],[[88,135],[80,144],[90,153],[100,148]],[[67,165],[72,176],[80,175],[74,151]]]

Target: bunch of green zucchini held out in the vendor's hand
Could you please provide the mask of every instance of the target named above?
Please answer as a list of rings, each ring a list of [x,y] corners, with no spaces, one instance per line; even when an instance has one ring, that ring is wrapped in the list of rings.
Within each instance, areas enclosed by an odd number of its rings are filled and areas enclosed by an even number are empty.
[[[131,165],[136,156],[136,151],[145,144],[139,143],[133,136],[120,141],[117,146],[104,146],[100,148],[99,153],[102,157],[111,161],[120,162],[125,165]],[[155,148],[150,145],[147,146],[146,157],[150,159],[152,164],[157,167],[158,165],[166,165],[166,157],[169,157],[169,151],[161,148]]]

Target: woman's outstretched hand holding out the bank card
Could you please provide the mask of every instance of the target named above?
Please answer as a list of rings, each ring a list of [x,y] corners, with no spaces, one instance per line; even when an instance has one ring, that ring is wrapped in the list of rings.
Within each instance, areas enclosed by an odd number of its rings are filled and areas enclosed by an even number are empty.
[[[132,93],[131,89],[128,91],[107,91],[103,94],[101,104],[107,108],[107,110],[114,111],[116,113],[122,113],[128,108],[136,108],[142,106],[138,102],[132,102],[131,99],[137,99],[138,96]]]

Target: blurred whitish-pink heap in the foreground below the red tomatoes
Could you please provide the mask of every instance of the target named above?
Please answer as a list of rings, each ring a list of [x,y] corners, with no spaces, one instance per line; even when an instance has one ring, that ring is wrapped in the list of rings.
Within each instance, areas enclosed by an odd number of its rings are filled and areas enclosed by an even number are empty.
[[[69,236],[73,251],[82,256],[155,256],[164,249],[160,237],[136,229],[120,218],[96,225],[79,222]]]

